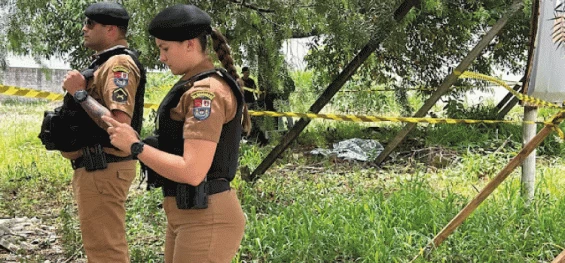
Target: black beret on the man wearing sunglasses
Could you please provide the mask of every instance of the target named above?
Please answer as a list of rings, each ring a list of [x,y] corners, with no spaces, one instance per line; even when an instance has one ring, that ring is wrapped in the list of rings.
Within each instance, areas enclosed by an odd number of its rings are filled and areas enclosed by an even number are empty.
[[[100,24],[127,26],[128,12],[118,3],[94,3],[84,10],[84,15]]]

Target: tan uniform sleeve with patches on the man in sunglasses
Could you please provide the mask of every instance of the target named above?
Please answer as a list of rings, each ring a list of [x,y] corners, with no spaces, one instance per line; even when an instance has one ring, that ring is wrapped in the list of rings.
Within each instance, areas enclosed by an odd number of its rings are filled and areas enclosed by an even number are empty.
[[[104,83],[102,97],[109,110],[120,110],[130,118],[133,116],[135,94],[139,84],[140,72],[128,55],[118,55],[104,63]]]

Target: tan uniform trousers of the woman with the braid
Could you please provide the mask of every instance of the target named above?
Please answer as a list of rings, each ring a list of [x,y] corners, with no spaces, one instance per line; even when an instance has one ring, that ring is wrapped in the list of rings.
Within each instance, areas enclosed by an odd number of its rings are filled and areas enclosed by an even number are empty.
[[[165,197],[165,263],[229,263],[243,238],[245,217],[234,189],[208,197],[206,209],[178,209]]]

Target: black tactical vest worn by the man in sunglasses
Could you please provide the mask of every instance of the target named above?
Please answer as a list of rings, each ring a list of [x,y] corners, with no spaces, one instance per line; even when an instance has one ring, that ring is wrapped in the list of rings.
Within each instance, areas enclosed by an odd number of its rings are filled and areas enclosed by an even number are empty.
[[[125,47],[118,47],[100,54],[81,74],[88,83],[100,65],[115,55],[130,56],[140,72],[140,80],[135,95],[134,112],[131,119],[131,126],[139,133],[141,132],[143,120],[146,74],[145,69],[137,59],[138,55]],[[79,103],[74,101],[69,93],[65,95],[62,106],[54,111],[45,112],[39,138],[47,150],[71,152],[96,144],[100,144],[103,147],[114,147],[110,143],[108,133],[88,116],[86,111]]]

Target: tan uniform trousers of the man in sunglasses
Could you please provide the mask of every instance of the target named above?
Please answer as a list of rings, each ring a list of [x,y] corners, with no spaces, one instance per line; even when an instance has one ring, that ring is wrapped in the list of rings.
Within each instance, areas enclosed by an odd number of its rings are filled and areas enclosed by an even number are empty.
[[[129,262],[125,201],[135,178],[135,163],[109,163],[108,168],[93,172],[75,170],[73,192],[89,263]]]

